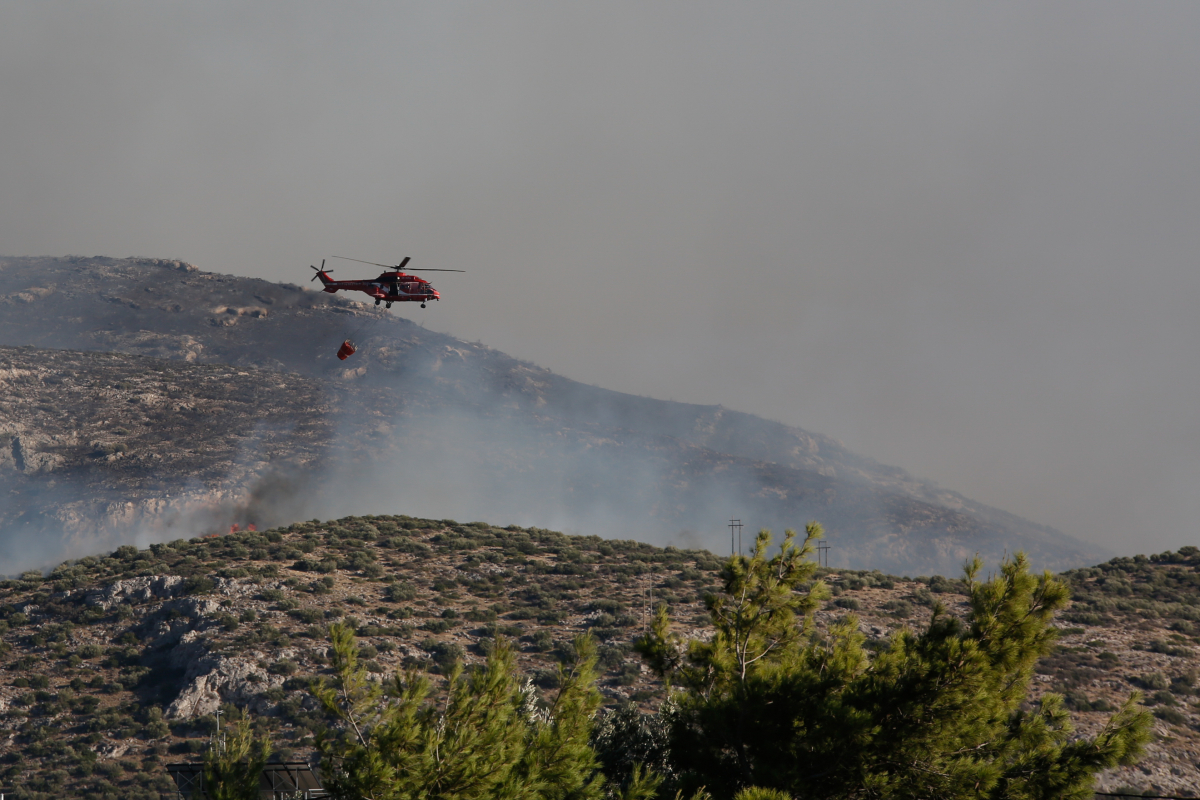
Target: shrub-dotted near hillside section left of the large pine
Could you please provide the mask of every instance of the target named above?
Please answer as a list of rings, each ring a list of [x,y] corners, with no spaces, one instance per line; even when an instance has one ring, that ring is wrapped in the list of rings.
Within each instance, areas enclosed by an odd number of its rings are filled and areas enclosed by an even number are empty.
[[[151,796],[163,763],[206,747],[221,704],[254,712],[278,754],[304,754],[318,722],[306,687],[329,667],[331,621],[358,632],[378,674],[437,675],[509,637],[542,688],[574,632],[589,630],[606,696],[649,700],[654,682],[630,646],[643,591],[695,609],[700,625],[718,567],[707,552],[368,517],[125,546],[29,572],[0,588],[0,710],[16,734],[0,744],[0,782]]]

